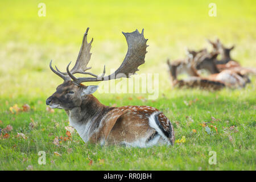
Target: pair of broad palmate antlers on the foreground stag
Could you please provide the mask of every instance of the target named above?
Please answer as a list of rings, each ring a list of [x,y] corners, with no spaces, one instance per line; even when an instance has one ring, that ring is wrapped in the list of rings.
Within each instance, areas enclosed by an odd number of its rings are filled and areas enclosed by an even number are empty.
[[[93,39],[90,41],[90,43],[87,42],[88,30],[89,28],[87,28],[84,34],[79,56],[77,57],[76,64],[71,69],[71,71],[69,71],[69,65],[71,64],[71,62],[67,66],[67,73],[60,72],[59,69],[57,69],[57,67],[56,67],[56,70],[57,70],[56,71],[51,66],[52,61],[50,62],[50,68],[54,73],[56,73],[56,75],[63,78],[64,81],[68,81],[72,79],[76,85],[80,85],[82,82],[105,81],[105,80],[112,80],[112,79],[117,79],[121,77],[129,78],[131,75],[134,75],[135,72],[139,71],[138,67],[139,65],[142,65],[145,62],[144,58],[147,53],[146,51],[147,39],[145,39],[143,35],[144,29],[142,30],[141,34],[139,33],[138,30],[135,30],[134,32],[131,32],[131,33],[122,32],[126,38],[128,51],[120,67],[109,76],[105,76],[105,65],[104,65],[104,71],[101,74],[101,76],[94,75],[93,73],[90,73],[90,72],[85,72],[86,70],[92,68],[92,67],[89,67],[89,68],[87,67],[87,64],[90,61],[90,56],[92,55],[92,53],[90,53],[90,48],[92,47],[91,45],[93,42]],[[73,74],[75,73],[82,73],[84,75],[91,75],[93,77],[76,78],[75,76],[73,76]]]

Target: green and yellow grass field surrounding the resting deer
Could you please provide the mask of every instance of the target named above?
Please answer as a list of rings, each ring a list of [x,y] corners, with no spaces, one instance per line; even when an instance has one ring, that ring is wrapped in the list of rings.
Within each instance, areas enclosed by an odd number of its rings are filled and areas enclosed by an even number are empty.
[[[219,37],[228,46],[236,44],[234,59],[256,67],[255,1],[214,1],[216,17],[208,16],[212,1],[44,1],[46,17],[38,16],[39,2],[0,2],[0,128],[13,126],[10,137],[0,140],[1,170],[30,165],[34,170],[255,170],[255,77],[243,89],[178,90],[171,88],[166,66],[167,57],[184,57],[186,46],[210,49],[205,39]],[[64,70],[70,60],[75,61],[87,27],[89,39],[94,38],[89,64],[94,73],[100,73],[104,64],[107,73],[121,64],[127,49],[121,31],[144,28],[150,47],[138,73],[159,73],[159,98],[142,101],[137,96],[147,94],[98,92],[95,96],[105,105],[150,105],[162,110],[174,125],[176,139],[185,136],[185,143],[101,147],[85,144],[77,133],[59,147],[52,143],[56,136],[65,136],[68,117],[63,110],[46,111],[46,98],[61,82],[48,64],[53,59]],[[31,110],[11,114],[14,104],[28,104]],[[211,117],[217,121],[211,123]],[[31,119],[37,122],[33,129]],[[203,122],[216,126],[218,133],[213,127],[206,133]],[[17,138],[17,132],[27,139]],[[70,154],[68,148],[73,149]],[[38,164],[39,151],[46,152],[46,165]],[[208,163],[209,151],[216,151],[216,165]]]

